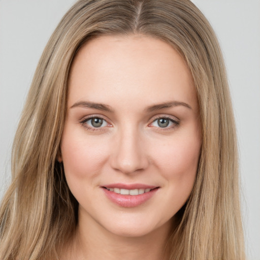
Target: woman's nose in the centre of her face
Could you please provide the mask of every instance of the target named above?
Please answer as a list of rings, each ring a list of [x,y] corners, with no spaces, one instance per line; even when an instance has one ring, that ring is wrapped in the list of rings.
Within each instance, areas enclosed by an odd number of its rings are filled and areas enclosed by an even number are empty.
[[[148,167],[148,156],[138,131],[122,131],[117,135],[114,144],[111,155],[111,167],[114,170],[131,174]]]

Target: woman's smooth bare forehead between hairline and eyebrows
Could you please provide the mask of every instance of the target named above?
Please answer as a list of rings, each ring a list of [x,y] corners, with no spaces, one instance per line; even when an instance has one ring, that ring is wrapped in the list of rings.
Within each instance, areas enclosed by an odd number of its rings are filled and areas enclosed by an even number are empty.
[[[116,104],[137,98],[147,106],[168,99],[197,106],[187,64],[171,45],[132,35],[102,36],[81,47],[70,70],[69,106],[84,99]]]

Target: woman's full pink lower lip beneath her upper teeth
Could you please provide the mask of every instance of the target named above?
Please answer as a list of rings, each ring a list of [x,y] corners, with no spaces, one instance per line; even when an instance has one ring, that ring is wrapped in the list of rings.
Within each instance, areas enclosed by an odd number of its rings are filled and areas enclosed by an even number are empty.
[[[139,195],[122,195],[110,191],[106,188],[103,188],[107,198],[113,203],[126,208],[137,207],[141,204],[147,202],[150,198],[152,198],[158,188],[152,189],[148,192]]]

